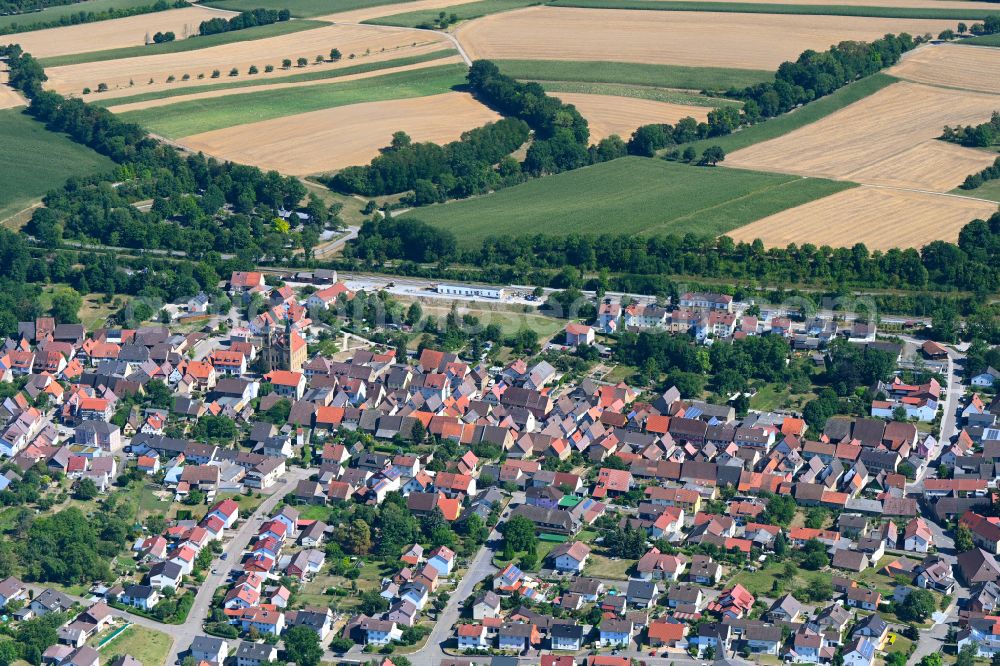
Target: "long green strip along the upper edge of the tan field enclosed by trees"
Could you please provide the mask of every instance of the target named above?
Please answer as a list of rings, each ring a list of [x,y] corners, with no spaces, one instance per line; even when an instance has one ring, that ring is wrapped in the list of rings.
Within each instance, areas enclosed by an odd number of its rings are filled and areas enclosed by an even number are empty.
[[[177,102],[121,114],[152,132],[178,138],[335,106],[426,97],[465,83],[465,65],[441,65],[369,79]]]

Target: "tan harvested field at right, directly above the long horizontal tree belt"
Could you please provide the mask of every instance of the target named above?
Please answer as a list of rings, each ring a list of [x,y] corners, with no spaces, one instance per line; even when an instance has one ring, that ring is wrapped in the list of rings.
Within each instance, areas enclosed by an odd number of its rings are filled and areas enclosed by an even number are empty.
[[[768,247],[789,243],[869,250],[922,247],[933,240],[955,242],[959,230],[985,219],[996,204],[947,194],[855,187],[782,211],[729,232],[734,240],[759,238]]]

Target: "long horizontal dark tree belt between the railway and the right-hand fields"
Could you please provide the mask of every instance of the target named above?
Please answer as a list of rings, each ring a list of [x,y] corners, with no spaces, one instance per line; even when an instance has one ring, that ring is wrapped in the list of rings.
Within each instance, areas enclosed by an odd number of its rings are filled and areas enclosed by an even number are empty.
[[[440,238],[450,234],[409,219],[399,220],[396,225],[412,225],[417,236]],[[988,221],[974,220],[965,225],[957,244],[933,241],[920,250],[894,248],[884,252],[869,251],[862,243],[850,248],[805,243],[765,249],[759,240],[736,243],[727,236],[710,238],[695,234],[536,234],[495,236],[475,248],[455,249],[447,255],[421,259],[399,249],[398,228],[391,235],[383,236],[384,231],[379,225],[362,227],[357,240],[346,249],[345,257],[362,259],[368,265],[387,260],[444,260],[487,269],[488,275],[506,284],[523,279],[548,284],[551,278],[542,271],[570,266],[617,274],[621,276],[618,285],[645,293],[650,293],[648,288],[655,290],[656,276],[665,274],[793,284],[935,288],[983,294],[1000,289],[1000,213]],[[436,246],[452,247],[450,242]],[[478,279],[490,278],[481,274]]]

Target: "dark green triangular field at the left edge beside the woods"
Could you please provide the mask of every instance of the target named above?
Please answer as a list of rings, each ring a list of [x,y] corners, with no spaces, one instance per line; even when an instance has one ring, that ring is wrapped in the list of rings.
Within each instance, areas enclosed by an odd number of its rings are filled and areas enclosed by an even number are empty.
[[[37,201],[67,178],[110,171],[114,162],[19,109],[0,111],[0,220]]]

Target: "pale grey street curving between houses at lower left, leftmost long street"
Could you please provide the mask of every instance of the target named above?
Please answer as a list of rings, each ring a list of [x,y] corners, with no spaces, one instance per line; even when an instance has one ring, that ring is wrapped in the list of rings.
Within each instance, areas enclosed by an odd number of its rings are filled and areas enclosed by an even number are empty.
[[[212,562],[212,568],[218,573],[209,573],[208,577],[205,578],[205,582],[198,588],[198,593],[195,596],[194,605],[191,607],[187,622],[179,626],[159,625],[160,631],[167,631],[174,641],[170,649],[170,657],[167,659],[167,664],[176,663],[181,653],[191,646],[191,641],[194,640],[194,637],[203,633],[202,625],[205,623],[212,609],[212,595],[225,583],[230,567],[239,565],[240,554],[250,544],[250,540],[256,536],[257,530],[260,527],[259,518],[269,516],[274,507],[284,499],[285,495],[295,490],[296,484],[303,479],[308,479],[311,473],[312,470],[310,469],[293,467],[285,474],[283,477],[284,483],[279,485],[277,490],[264,500],[253,514],[244,519],[236,532],[228,537],[229,542],[223,549],[224,553],[228,553],[228,559],[226,562],[222,562],[219,559]]]

